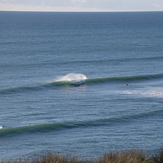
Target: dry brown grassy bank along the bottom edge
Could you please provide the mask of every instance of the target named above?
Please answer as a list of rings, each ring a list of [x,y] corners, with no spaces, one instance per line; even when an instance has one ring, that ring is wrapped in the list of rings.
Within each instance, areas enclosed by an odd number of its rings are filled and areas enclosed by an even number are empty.
[[[124,152],[110,152],[95,160],[80,160],[75,157],[66,157],[55,154],[45,154],[28,160],[1,161],[0,163],[163,163],[163,149],[157,154],[148,156],[137,150]]]

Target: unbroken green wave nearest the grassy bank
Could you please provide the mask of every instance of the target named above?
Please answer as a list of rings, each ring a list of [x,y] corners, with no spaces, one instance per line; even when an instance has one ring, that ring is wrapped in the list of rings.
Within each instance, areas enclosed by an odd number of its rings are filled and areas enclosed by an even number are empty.
[[[50,131],[60,131],[71,128],[84,128],[84,127],[102,127],[111,125],[122,125],[122,123],[129,123],[133,120],[140,120],[144,118],[151,118],[153,116],[162,116],[163,110],[155,110],[152,112],[139,113],[134,115],[126,115],[120,117],[110,117],[106,119],[96,119],[90,121],[76,121],[76,122],[63,122],[54,124],[38,124],[15,128],[1,128],[0,137],[21,135],[21,134],[34,134],[34,133],[46,133]]]

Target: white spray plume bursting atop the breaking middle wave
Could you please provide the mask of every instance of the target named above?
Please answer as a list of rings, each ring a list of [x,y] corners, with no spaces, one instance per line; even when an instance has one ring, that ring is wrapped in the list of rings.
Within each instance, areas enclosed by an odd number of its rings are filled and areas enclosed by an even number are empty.
[[[87,77],[84,74],[70,73],[65,76],[59,76],[55,81],[83,81]]]

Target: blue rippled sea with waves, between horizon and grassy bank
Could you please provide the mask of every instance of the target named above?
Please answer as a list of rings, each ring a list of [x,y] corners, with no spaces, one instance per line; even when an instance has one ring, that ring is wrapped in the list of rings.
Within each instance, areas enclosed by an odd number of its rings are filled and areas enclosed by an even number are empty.
[[[0,160],[162,146],[163,12],[0,12]]]

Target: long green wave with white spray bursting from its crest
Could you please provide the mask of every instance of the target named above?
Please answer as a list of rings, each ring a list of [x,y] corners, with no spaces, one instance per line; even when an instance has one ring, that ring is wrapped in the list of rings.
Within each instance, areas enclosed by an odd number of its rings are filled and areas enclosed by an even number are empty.
[[[15,87],[0,90],[0,94],[10,94],[16,92],[24,92],[24,91],[39,91],[43,88],[50,87],[74,87],[80,86],[83,84],[98,84],[98,83],[107,83],[107,82],[136,82],[136,81],[145,81],[145,80],[157,80],[162,79],[163,74],[151,74],[151,75],[139,75],[139,76],[117,76],[117,77],[106,77],[106,78],[87,78],[84,74],[75,74],[70,73],[65,76],[60,76],[57,79],[54,79],[49,82],[44,82],[43,84],[38,84],[35,86],[27,86],[27,87]],[[83,82],[79,82],[83,81]]]

